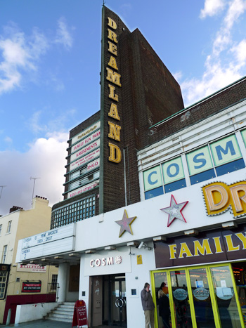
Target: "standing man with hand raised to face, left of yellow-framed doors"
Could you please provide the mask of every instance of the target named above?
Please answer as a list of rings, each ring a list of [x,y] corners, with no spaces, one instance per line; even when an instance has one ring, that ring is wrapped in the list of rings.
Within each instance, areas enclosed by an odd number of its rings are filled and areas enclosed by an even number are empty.
[[[155,304],[150,293],[150,284],[148,282],[145,283],[141,291],[141,301],[145,316],[145,328],[155,328]]]

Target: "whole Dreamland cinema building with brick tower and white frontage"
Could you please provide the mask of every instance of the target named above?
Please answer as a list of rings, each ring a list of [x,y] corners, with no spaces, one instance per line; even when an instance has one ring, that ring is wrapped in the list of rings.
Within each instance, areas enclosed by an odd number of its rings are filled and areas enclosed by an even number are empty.
[[[64,200],[16,261],[59,265],[89,327],[144,327],[145,282],[155,327],[162,282],[171,327],[245,327],[246,78],[183,109],[141,32],[105,6],[102,27],[101,110],[70,131]]]

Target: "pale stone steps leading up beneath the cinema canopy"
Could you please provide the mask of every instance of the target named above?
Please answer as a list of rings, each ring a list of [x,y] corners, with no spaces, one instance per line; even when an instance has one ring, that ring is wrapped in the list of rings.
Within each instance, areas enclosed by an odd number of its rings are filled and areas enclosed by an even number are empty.
[[[58,305],[57,308],[48,313],[44,319],[71,322],[74,314],[75,303],[74,302],[63,302]]]

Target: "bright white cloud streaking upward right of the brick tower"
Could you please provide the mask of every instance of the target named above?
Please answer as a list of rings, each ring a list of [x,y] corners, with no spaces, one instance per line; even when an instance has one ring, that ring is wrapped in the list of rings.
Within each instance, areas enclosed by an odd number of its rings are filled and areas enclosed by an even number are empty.
[[[206,4],[208,6],[209,1],[205,1],[205,8]],[[246,40],[233,40],[232,31],[235,23],[245,14],[246,1],[231,0],[224,4],[227,4],[227,8],[213,41],[211,54],[207,55],[202,77],[186,79],[181,83],[186,106],[209,96],[245,75]],[[214,1],[214,6],[219,8],[222,4],[220,1]],[[214,8],[214,13],[215,11]],[[209,9],[207,9],[207,13],[209,13]]]

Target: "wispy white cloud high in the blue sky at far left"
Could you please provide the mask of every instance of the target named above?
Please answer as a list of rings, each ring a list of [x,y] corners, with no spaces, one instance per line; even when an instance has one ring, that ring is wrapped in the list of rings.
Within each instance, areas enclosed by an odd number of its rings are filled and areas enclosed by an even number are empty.
[[[37,29],[31,37],[13,25],[5,30],[8,35],[0,39],[0,95],[20,87],[23,72],[37,70],[37,60],[48,48],[46,37]]]

